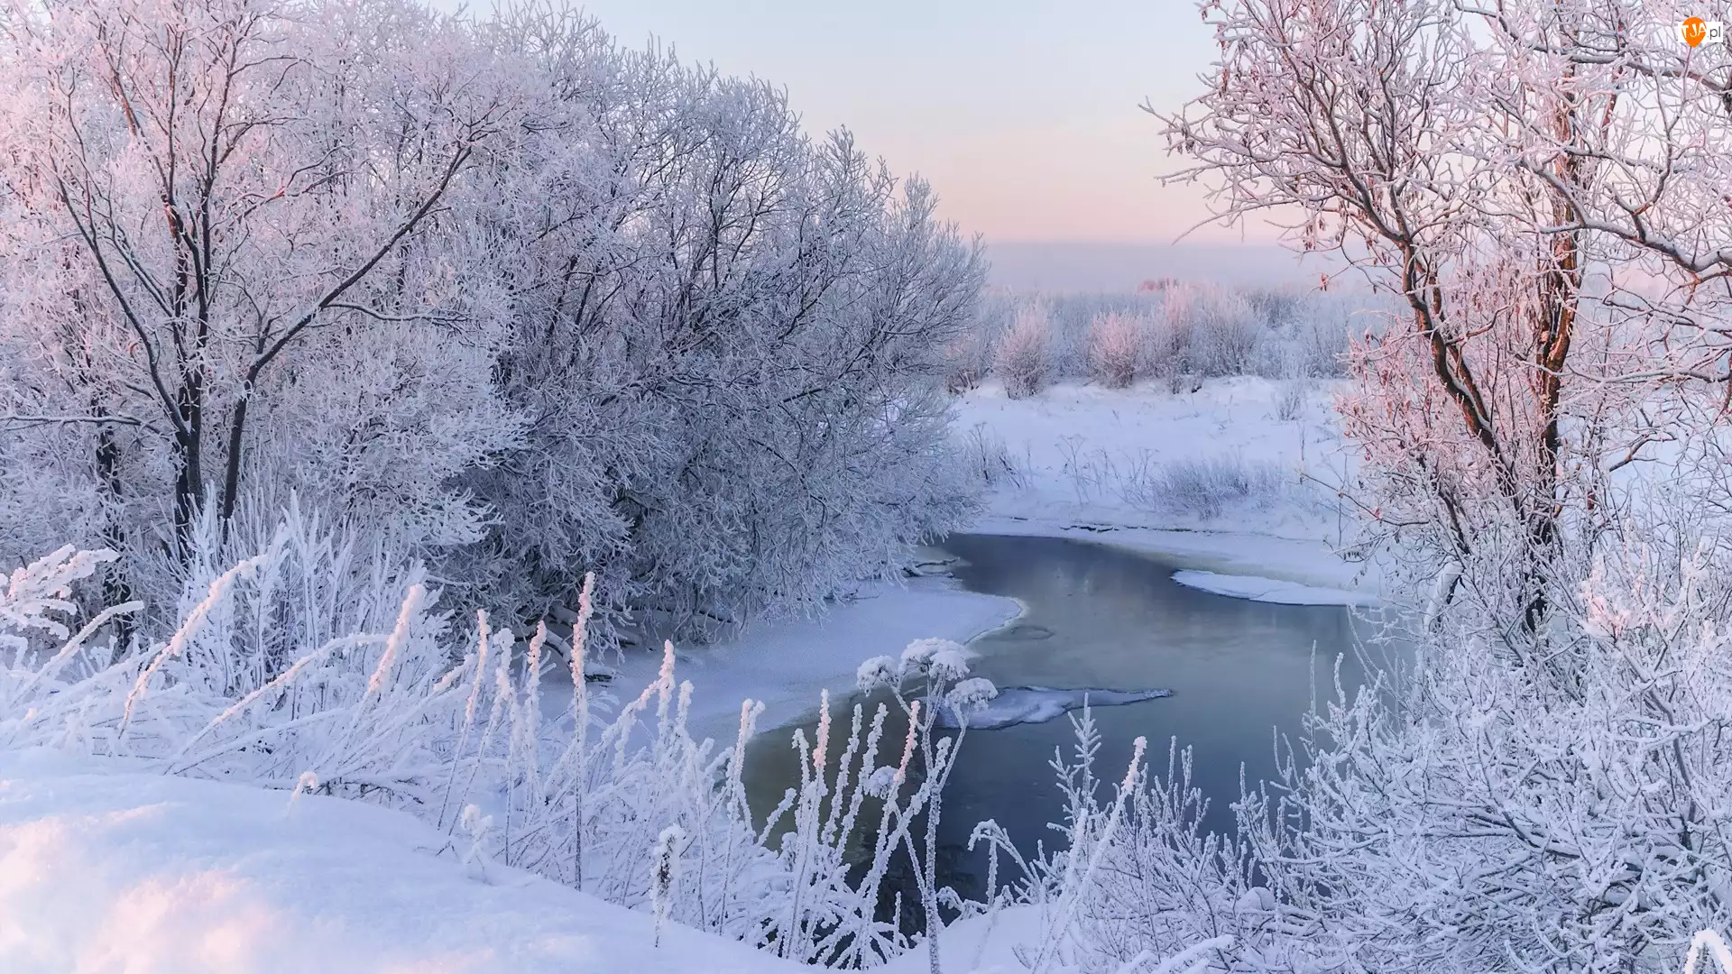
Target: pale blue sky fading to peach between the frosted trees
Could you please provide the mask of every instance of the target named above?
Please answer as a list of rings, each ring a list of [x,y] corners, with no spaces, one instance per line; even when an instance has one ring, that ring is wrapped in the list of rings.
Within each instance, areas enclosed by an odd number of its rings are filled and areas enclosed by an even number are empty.
[[[454,0],[445,0],[450,3]],[[785,85],[807,128],[918,170],[987,241],[1173,241],[1205,217],[1143,99],[1173,109],[1214,54],[1192,0],[591,0],[622,43]],[[1202,243],[1242,239],[1205,229]],[[1252,234],[1268,239],[1268,234]]]

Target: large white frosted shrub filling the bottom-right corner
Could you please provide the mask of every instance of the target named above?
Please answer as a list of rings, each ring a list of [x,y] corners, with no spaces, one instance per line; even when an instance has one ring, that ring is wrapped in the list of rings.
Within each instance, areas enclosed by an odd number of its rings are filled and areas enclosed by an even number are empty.
[[[1732,927],[1725,553],[1659,523],[1616,530],[1557,591],[1545,655],[1490,629],[1464,582],[1432,633],[1408,634],[1412,676],[1337,686],[1311,761],[1245,802],[1276,912],[1332,929],[1287,941],[1292,957],[1678,971],[1697,931]]]

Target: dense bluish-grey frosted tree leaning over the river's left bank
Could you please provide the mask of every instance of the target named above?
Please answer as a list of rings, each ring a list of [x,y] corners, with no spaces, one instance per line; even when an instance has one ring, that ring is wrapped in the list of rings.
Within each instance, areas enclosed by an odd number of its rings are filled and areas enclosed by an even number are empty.
[[[553,92],[509,177],[528,187],[485,220],[514,255],[501,374],[532,426],[476,489],[520,594],[594,570],[604,603],[693,633],[812,607],[960,523],[935,386],[982,263],[930,189],[809,139],[778,88],[580,16],[490,36]]]

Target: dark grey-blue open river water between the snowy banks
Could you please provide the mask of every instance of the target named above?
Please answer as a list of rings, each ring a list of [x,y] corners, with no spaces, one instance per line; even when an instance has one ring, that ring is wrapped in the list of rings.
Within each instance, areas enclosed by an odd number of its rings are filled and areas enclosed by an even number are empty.
[[[1193,750],[1192,780],[1211,799],[1205,827],[1212,830],[1231,828],[1228,802],[1238,797],[1240,764],[1252,783],[1273,775],[1275,728],[1299,730],[1313,678],[1327,697],[1334,660],[1346,653],[1342,683],[1349,692],[1360,683],[1353,617],[1339,607],[1268,605],[1190,589],[1173,581],[1185,565],[1070,539],[951,536],[944,548],[966,560],[956,577],[968,589],[1027,607],[1013,624],[973,643],[977,676],[999,686],[1173,690],[1169,698],[1093,711],[1103,738],[1096,776],[1122,776],[1138,735],[1148,738],[1152,763],[1164,771],[1167,742],[1178,738]],[[837,714],[838,731],[843,714]],[[804,724],[807,735],[814,724],[816,718]],[[1046,828],[1062,813],[1048,763],[1055,749],[1069,757],[1074,740],[1063,718],[968,733],[940,821],[949,853],[940,865],[960,891],[979,893],[972,873],[982,867],[961,851],[979,820],[996,820],[1025,853],[1037,841],[1062,841]],[[786,731],[772,731],[753,749],[755,808],[774,804],[795,778],[786,742]]]

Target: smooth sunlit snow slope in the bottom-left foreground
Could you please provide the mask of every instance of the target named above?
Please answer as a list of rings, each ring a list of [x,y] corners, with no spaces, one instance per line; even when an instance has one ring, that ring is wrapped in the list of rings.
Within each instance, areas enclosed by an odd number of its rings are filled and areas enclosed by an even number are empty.
[[[461,851],[409,815],[0,754],[0,971],[798,971]]]

